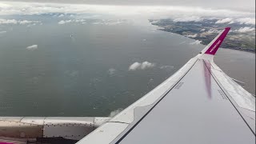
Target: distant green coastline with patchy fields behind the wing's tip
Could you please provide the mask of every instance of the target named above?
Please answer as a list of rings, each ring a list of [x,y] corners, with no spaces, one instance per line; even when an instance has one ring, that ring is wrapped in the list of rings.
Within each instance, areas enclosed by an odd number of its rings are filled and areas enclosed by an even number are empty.
[[[239,22],[220,22],[209,18],[200,21],[180,22],[173,19],[150,19],[158,30],[181,34],[193,38],[202,45],[208,45],[223,28],[231,27],[230,33],[222,43],[222,48],[243,50],[255,53],[255,25]]]

